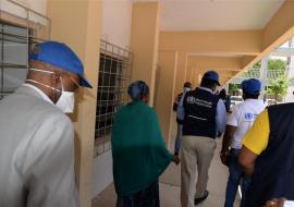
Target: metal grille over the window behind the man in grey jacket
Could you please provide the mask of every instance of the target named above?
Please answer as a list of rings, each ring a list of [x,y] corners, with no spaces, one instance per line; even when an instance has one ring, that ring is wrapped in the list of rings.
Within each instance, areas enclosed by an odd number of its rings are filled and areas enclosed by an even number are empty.
[[[44,41],[36,37],[36,31],[30,27],[32,21],[38,17],[39,21],[47,22],[48,38],[50,37],[50,19],[13,0],[4,0],[3,3],[20,9],[26,17],[15,16],[0,9],[1,14],[25,21],[26,25],[20,26],[0,19],[0,102],[23,84],[28,70],[28,54],[35,44]],[[33,21],[35,25],[40,25],[35,21]]]

